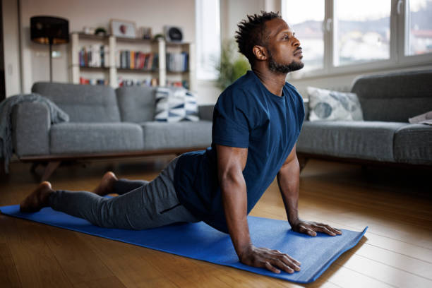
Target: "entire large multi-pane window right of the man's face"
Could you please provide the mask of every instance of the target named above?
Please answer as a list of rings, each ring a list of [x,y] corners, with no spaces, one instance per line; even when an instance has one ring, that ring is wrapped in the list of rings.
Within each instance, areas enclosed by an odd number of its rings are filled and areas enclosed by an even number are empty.
[[[290,78],[432,64],[432,0],[281,0],[304,68]]]

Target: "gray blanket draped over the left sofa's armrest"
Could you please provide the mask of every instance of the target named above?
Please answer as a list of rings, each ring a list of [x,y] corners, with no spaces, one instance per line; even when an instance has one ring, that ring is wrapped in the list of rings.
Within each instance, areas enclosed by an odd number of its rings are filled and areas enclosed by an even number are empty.
[[[6,173],[9,172],[9,162],[13,153],[11,123],[12,111],[13,107],[21,102],[41,102],[47,105],[52,124],[69,121],[68,114],[57,107],[54,102],[39,94],[20,94],[7,97],[0,103],[0,157],[4,158],[4,169]]]

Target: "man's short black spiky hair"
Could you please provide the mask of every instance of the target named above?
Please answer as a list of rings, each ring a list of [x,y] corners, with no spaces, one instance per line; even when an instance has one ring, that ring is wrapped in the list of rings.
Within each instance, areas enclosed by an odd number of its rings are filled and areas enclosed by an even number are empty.
[[[275,18],[281,18],[279,12],[265,12],[261,11],[260,15],[253,14],[246,16],[248,20],[241,20],[237,25],[239,28],[236,31],[236,42],[239,44],[239,52],[244,54],[248,59],[251,66],[255,60],[255,55],[252,52],[252,48],[255,45],[266,47],[265,40],[265,22]]]

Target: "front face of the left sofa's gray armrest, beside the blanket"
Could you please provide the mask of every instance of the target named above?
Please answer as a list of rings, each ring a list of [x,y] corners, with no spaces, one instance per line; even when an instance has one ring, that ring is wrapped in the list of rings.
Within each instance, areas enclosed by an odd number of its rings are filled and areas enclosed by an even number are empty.
[[[12,141],[18,157],[49,154],[48,107],[40,102],[23,102],[13,108]]]

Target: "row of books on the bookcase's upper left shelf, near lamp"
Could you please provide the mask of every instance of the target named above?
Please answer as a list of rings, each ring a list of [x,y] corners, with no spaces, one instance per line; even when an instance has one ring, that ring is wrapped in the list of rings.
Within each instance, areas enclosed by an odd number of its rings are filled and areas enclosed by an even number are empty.
[[[89,45],[78,52],[81,67],[109,66],[109,49],[107,45]]]

